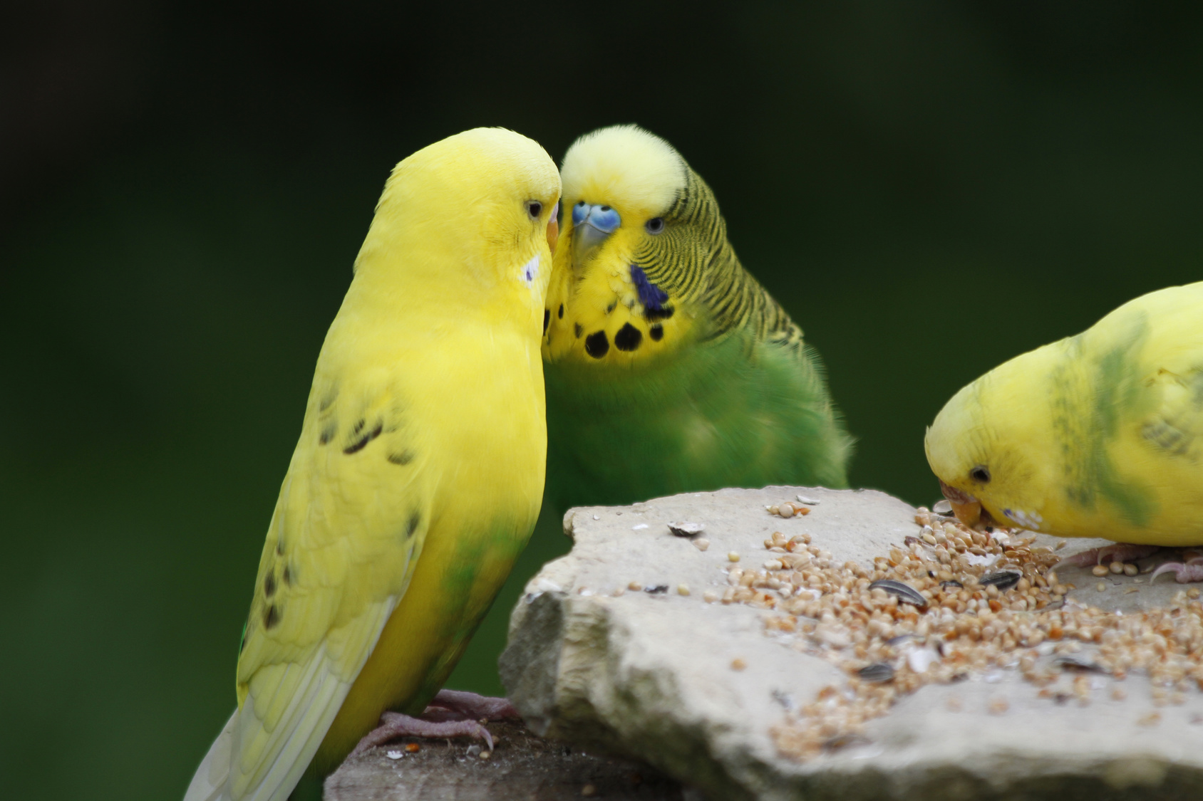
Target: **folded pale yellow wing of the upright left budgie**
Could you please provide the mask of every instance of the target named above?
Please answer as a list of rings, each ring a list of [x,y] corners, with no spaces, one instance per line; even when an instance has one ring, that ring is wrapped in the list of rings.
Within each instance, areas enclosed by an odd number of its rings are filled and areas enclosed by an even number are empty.
[[[238,659],[231,799],[288,797],[421,552],[429,462],[396,386],[373,384],[315,380]]]

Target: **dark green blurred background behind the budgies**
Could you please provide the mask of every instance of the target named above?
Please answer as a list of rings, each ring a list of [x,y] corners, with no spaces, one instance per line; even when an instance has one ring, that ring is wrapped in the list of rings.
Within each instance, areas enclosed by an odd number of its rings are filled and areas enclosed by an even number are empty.
[[[32,6],[34,4],[26,4]],[[822,352],[858,486],[966,381],[1201,278],[1203,6],[91,4],[0,12],[0,777],[179,797],[390,167],[636,121]],[[499,693],[545,515],[452,686]]]

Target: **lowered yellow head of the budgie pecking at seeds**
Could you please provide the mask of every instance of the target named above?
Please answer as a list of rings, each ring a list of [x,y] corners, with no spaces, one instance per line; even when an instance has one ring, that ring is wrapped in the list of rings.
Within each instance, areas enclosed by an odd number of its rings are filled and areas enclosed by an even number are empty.
[[[1057,463],[1048,398],[1037,391],[1050,346],[964,387],[928,428],[924,450],[944,497],[967,526],[1044,530]]]

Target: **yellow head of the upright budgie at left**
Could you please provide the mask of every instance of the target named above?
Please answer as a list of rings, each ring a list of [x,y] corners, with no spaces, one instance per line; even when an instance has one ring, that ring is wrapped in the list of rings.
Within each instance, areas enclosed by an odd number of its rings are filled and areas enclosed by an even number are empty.
[[[414,302],[520,301],[541,318],[558,230],[559,173],[539,143],[478,127],[401,161],[385,184],[356,274]],[[381,298],[387,302],[387,298]]]

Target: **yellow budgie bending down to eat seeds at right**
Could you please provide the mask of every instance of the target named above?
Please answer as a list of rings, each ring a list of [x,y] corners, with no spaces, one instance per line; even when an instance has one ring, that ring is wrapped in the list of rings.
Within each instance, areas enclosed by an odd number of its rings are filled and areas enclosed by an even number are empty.
[[[1203,545],[1203,283],[996,367],[953,396],[924,444],[970,526]]]

